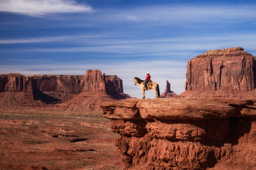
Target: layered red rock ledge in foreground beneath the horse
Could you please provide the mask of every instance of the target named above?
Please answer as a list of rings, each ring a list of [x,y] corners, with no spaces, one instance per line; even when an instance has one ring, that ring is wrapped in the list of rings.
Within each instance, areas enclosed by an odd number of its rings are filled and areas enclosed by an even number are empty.
[[[256,169],[255,100],[131,98],[101,108],[127,169]]]

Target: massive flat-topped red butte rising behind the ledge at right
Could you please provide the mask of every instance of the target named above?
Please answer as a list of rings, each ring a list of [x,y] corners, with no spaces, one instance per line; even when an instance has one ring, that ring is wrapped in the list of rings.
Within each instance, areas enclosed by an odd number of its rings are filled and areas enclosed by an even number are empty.
[[[209,50],[188,61],[186,92],[181,96],[244,97],[245,91],[255,90],[255,68],[255,57],[242,47]]]

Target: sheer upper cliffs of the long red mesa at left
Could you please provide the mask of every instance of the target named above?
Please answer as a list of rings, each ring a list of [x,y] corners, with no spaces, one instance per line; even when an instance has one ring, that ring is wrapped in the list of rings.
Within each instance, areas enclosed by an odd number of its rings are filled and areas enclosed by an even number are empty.
[[[1,74],[0,92],[57,91],[80,94],[82,91],[123,93],[122,80],[117,76],[102,75],[100,70],[87,70],[85,75],[33,75]]]

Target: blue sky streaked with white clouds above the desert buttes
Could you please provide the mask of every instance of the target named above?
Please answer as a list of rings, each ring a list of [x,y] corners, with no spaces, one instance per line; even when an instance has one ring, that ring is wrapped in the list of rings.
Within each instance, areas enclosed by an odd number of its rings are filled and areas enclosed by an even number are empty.
[[[243,47],[256,56],[255,0],[1,0],[0,74],[117,75],[185,91],[186,65],[208,50]],[[146,91],[154,98],[154,91]]]

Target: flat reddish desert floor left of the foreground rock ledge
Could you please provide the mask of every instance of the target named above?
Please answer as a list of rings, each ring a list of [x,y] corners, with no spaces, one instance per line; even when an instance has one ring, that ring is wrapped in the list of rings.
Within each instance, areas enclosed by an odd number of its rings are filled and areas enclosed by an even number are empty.
[[[0,169],[124,169],[101,112],[0,108]]]

